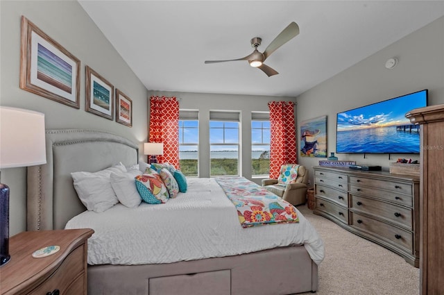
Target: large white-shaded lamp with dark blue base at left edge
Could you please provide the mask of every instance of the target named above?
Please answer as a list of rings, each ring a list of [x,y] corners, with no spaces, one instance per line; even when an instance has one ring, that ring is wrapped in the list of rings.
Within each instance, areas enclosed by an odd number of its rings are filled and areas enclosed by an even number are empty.
[[[42,164],[44,114],[0,106],[0,169]],[[9,187],[0,183],[0,266],[9,260]]]

